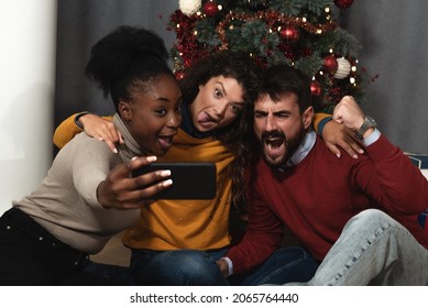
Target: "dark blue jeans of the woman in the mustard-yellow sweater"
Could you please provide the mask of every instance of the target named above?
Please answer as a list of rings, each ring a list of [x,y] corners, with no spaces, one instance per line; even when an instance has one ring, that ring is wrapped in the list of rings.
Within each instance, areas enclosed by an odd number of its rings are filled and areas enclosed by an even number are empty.
[[[243,275],[223,277],[216,261],[227,249],[201,252],[196,250],[133,250],[131,276],[135,285],[260,285],[306,282],[318,263],[301,248],[277,250],[261,266]]]

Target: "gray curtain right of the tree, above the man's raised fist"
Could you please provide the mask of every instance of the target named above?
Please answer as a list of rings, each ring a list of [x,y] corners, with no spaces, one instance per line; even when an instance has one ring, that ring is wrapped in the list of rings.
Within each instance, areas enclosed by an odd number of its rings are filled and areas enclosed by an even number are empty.
[[[364,110],[403,151],[428,153],[428,1],[355,0],[342,22],[370,75]]]

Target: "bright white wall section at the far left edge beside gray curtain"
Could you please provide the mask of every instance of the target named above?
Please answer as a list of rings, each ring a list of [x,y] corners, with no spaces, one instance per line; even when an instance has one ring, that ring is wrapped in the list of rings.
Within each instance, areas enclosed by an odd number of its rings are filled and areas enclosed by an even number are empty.
[[[52,163],[56,0],[0,0],[0,213]]]

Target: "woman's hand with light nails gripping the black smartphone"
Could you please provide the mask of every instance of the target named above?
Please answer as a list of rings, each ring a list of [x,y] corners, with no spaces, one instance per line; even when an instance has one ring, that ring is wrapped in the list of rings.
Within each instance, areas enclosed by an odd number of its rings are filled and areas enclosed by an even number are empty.
[[[97,189],[98,201],[106,208],[136,209],[154,201],[156,193],[173,184],[171,170],[156,170],[131,177],[133,170],[155,162],[155,156],[134,157],[116,166]]]

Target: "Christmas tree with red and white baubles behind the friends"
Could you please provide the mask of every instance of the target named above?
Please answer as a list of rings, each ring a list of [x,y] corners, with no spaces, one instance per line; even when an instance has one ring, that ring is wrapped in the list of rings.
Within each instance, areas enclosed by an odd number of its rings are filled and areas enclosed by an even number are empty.
[[[363,99],[358,40],[333,14],[353,0],[179,0],[169,16],[177,78],[195,61],[244,51],[263,67],[285,63],[312,77],[317,111],[332,112],[350,95]]]

